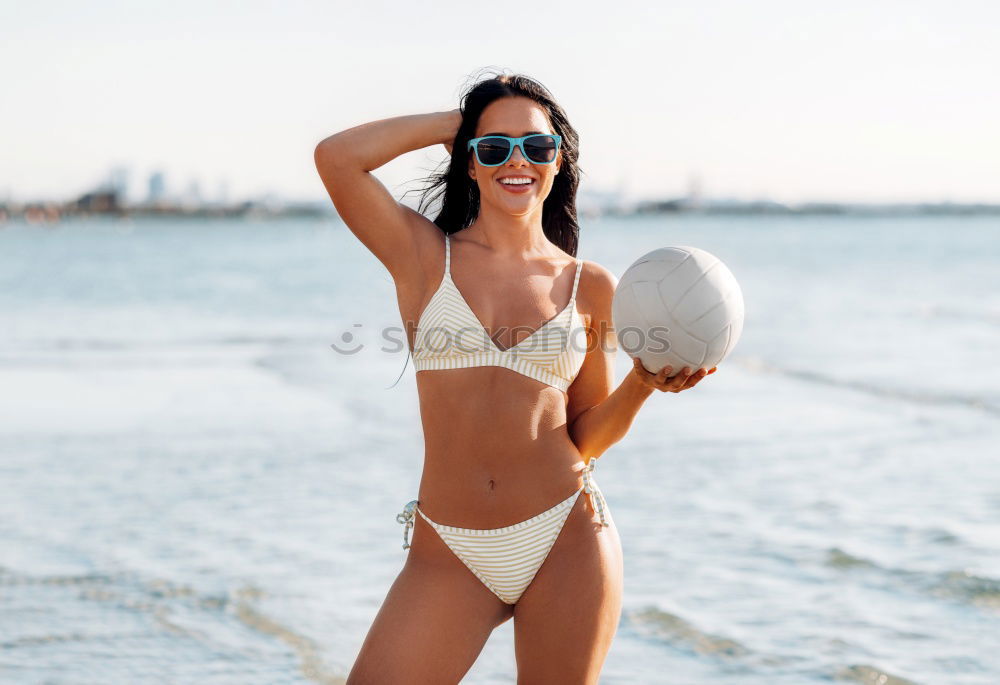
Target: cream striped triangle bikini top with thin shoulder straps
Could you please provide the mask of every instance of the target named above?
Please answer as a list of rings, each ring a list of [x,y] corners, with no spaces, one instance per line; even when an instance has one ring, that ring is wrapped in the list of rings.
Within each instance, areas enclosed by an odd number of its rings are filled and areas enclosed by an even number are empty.
[[[418,372],[502,366],[566,392],[587,352],[586,329],[576,310],[582,266],[578,259],[569,304],[517,345],[501,349],[451,279],[451,241],[445,234],[444,276],[417,322],[413,366]]]

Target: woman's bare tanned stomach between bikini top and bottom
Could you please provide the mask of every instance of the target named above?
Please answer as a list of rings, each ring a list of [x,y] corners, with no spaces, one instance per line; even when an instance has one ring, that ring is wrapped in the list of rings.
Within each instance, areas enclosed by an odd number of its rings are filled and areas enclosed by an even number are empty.
[[[566,394],[502,367],[417,374],[424,428],[418,499],[431,519],[500,528],[582,485]]]

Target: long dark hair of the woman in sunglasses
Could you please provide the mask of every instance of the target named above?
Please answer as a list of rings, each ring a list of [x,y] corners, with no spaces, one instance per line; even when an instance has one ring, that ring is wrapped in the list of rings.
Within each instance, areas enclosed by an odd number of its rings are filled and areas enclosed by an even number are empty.
[[[522,96],[538,103],[548,114],[555,133],[562,136],[562,163],[552,182],[552,190],[542,205],[542,229],[545,236],[565,252],[576,257],[580,226],[576,216],[576,190],[583,171],[577,164],[580,138],[566,112],[549,90],[538,81],[521,74],[494,74],[474,83],[462,95],[459,110],[462,124],[452,146],[448,168],[424,179],[426,185],[418,211],[424,213],[434,202],[441,201],[441,211],[434,223],[445,233],[468,228],[479,216],[479,186],[469,178],[469,141],[475,137],[476,126],[483,110],[495,100]]]

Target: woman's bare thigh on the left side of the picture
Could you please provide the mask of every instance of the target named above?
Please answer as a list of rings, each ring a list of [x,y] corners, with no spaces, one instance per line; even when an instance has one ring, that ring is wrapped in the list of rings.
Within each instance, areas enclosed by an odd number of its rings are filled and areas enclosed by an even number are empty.
[[[512,614],[419,516],[410,545],[349,685],[458,683]]]

